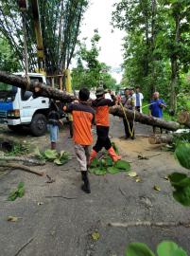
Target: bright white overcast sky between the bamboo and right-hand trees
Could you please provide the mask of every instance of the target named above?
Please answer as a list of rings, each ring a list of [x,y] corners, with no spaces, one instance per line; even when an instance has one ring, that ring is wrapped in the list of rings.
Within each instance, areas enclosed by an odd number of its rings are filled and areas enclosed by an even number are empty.
[[[113,29],[111,25],[112,5],[115,2],[117,0],[91,0],[90,7],[84,14],[79,36],[80,39],[88,37],[90,40],[94,35],[94,29],[97,28],[101,36],[99,61],[112,67],[120,66],[123,62],[121,45],[124,33],[119,29]]]

